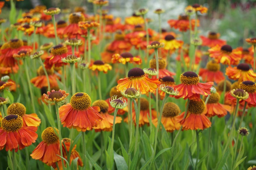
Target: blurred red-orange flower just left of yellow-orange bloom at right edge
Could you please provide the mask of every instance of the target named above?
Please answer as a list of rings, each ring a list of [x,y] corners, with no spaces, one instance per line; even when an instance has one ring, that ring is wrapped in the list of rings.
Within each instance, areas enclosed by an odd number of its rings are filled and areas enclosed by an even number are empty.
[[[207,82],[219,83],[225,79],[223,73],[220,71],[220,64],[216,63],[215,60],[210,60],[206,64],[206,69],[200,68],[198,75],[202,77],[203,81]]]

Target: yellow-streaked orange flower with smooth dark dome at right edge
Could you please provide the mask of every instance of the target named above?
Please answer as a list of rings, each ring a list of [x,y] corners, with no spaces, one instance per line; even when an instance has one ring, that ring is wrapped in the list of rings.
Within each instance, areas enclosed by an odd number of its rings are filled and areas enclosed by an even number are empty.
[[[238,80],[238,82],[247,80],[255,81],[256,78],[256,73],[254,73],[246,63],[240,63],[234,68],[228,66],[226,69],[226,75],[228,78]]]

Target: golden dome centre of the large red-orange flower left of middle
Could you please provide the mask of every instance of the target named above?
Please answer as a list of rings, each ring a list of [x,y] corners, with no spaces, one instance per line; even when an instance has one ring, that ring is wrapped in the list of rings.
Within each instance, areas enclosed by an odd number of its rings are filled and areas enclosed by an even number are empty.
[[[92,100],[87,93],[77,92],[70,99],[71,106],[76,110],[84,110],[91,106]]]

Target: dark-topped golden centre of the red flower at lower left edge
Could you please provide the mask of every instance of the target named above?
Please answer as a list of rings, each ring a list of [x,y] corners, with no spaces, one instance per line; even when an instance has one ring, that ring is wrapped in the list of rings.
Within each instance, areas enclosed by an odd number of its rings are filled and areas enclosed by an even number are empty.
[[[1,128],[8,132],[14,132],[22,127],[23,119],[19,115],[8,115],[1,120]]]

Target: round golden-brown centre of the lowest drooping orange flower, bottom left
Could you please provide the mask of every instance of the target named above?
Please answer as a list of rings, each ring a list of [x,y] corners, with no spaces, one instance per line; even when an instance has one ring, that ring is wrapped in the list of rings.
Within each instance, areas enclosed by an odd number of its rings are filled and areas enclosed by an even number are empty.
[[[57,133],[59,133],[59,130],[54,128]],[[42,139],[47,144],[54,144],[59,141],[58,135],[54,132],[52,127],[48,127],[44,129],[42,132]]]

